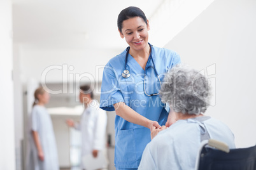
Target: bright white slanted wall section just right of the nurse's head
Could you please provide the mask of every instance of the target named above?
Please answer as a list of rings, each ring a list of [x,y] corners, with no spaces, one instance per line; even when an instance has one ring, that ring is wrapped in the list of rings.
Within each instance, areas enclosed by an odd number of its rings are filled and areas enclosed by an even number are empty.
[[[149,18],[149,42],[162,47],[187,27],[214,0],[162,1]]]

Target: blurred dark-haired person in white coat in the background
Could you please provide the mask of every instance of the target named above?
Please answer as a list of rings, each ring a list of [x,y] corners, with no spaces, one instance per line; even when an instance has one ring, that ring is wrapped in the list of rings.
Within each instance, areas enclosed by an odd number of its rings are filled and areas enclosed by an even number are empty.
[[[97,100],[93,99],[93,93],[89,85],[80,86],[80,102],[85,107],[81,116],[80,122],[74,122],[68,119],[66,123],[69,127],[81,131],[82,134],[82,168],[87,166],[83,163],[83,158],[92,154],[92,157],[97,158],[100,154],[104,155],[102,162],[104,169],[108,165],[106,157],[106,111],[99,108]],[[100,163],[101,164],[101,163]]]

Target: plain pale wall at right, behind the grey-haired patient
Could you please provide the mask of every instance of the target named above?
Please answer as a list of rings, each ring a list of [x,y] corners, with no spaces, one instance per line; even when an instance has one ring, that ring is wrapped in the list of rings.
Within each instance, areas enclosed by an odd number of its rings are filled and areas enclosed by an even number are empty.
[[[165,47],[201,70],[216,64],[216,104],[207,114],[224,121],[237,147],[256,143],[256,1],[215,0]]]

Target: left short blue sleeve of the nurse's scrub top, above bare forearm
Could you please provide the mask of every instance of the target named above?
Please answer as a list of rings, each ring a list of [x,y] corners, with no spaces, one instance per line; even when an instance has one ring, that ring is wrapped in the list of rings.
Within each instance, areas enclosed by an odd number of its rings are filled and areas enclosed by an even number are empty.
[[[115,103],[124,102],[124,97],[120,90],[115,69],[110,65],[104,67],[103,81],[101,84],[100,108],[106,111],[114,111]]]

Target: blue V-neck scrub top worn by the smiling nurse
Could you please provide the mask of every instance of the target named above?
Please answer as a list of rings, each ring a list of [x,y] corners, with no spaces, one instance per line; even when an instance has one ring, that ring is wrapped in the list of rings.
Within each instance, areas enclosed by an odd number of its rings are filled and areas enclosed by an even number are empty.
[[[129,78],[122,77],[125,70],[124,50],[120,55],[111,58],[104,67],[103,81],[101,85],[100,107],[106,111],[114,111],[113,104],[124,102],[138,114],[152,121],[158,121],[164,125],[169,110],[157,96],[146,96],[143,89],[145,70],[131,56],[127,58]],[[175,51],[152,46],[152,58],[155,63],[160,81],[163,84],[164,74],[177,63],[180,56]],[[148,59],[146,65],[153,65]],[[152,68],[146,72],[146,93],[159,93],[160,83]],[[115,166],[118,168],[138,168],[146,144],[149,143],[150,129],[125,121],[122,117],[115,117]]]

